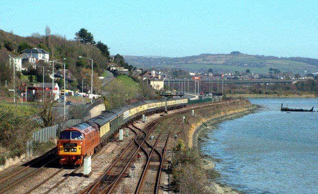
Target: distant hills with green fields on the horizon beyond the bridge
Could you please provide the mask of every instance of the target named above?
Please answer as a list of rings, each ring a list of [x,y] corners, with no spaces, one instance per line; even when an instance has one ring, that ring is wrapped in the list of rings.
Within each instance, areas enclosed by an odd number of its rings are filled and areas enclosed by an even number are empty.
[[[124,56],[125,61],[143,69],[177,68],[190,72],[250,72],[267,74],[269,68],[279,69],[281,72],[316,73],[318,59],[290,57],[279,58],[273,56],[247,55],[238,51],[230,54],[201,54],[188,57],[143,57]]]

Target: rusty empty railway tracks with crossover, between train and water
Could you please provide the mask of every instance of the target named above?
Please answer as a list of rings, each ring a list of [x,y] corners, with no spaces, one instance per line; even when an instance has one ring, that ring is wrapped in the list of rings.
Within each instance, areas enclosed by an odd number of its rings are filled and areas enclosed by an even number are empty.
[[[219,102],[206,103],[206,104],[194,104],[190,105],[184,110],[179,111],[178,113],[187,112],[191,108],[200,108],[206,105],[215,105],[216,108]],[[214,108],[213,108],[214,109]],[[106,172],[96,180],[92,185],[88,186],[82,190],[81,194],[101,194],[101,193],[158,193],[160,187],[160,175],[161,169],[164,165],[164,154],[167,149],[167,142],[170,134],[155,134],[152,144],[148,142],[149,135],[151,134],[153,128],[159,123],[161,117],[151,123],[149,123],[144,129],[139,129],[138,127],[129,126],[131,131],[136,135],[133,141],[129,146],[122,152],[120,156],[110,165]],[[135,129],[133,129],[135,128]],[[137,129],[137,130],[136,130]],[[120,182],[123,177],[130,177],[131,173],[130,168],[132,164],[136,162],[136,155],[142,152],[145,158],[144,164],[142,165],[141,174],[135,176],[140,177],[138,183],[135,183],[133,187],[130,188],[130,191],[120,191],[124,186],[121,186]],[[147,180],[147,181],[145,181]],[[135,188],[135,189],[134,189]],[[161,186],[163,188],[163,186]],[[133,191],[131,191],[133,189]]]

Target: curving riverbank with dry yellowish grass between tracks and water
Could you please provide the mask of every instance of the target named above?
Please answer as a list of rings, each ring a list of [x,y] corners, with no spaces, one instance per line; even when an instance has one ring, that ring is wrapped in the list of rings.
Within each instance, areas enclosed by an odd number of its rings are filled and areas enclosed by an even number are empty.
[[[228,119],[234,119],[241,117],[245,114],[249,114],[257,110],[259,106],[253,105],[253,104],[238,104],[237,106],[232,107],[232,109],[228,106],[220,107],[219,111],[213,115],[210,116],[204,116],[197,122],[194,122],[191,124],[191,128],[189,130],[189,140],[192,143],[189,143],[189,147],[197,147],[200,150],[200,142],[202,136],[205,135],[205,132],[208,130],[213,130],[213,126],[217,123],[220,123],[222,121],[228,120]],[[200,111],[200,110],[199,110]],[[203,111],[205,112],[205,111]],[[205,112],[206,114],[206,112]],[[203,157],[203,163],[204,166],[202,167],[205,169],[210,177],[210,189],[212,193],[217,194],[241,194],[241,192],[234,190],[228,186],[221,185],[219,183],[216,183],[213,181],[214,178],[219,177],[219,173],[214,170],[215,164],[213,162],[213,159],[205,156],[203,153],[201,153]]]

